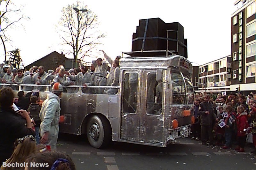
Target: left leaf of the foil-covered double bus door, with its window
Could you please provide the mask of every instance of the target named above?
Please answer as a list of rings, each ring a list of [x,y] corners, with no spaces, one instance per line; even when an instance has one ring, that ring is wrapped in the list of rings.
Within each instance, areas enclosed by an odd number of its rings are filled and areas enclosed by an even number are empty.
[[[123,72],[121,104],[121,139],[139,141],[140,132],[140,70]]]

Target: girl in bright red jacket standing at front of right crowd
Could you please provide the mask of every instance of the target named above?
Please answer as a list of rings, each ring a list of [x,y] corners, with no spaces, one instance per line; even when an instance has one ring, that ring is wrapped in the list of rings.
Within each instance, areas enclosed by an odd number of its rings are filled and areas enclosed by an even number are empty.
[[[238,106],[237,109],[237,117],[236,117],[236,129],[237,129],[237,139],[238,146],[235,150],[238,152],[244,152],[244,146],[246,141],[246,129],[249,127],[247,122],[247,113],[244,112],[243,106]]]

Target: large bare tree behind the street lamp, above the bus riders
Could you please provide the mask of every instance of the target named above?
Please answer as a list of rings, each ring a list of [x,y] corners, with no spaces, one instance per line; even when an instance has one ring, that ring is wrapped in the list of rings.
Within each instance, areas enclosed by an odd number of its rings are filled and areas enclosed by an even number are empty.
[[[91,56],[90,52],[97,49],[100,39],[105,37],[98,26],[98,16],[93,13],[87,6],[77,1],[76,4],[68,5],[62,9],[62,17],[59,25],[61,26],[60,36],[63,40],[62,45],[68,45],[66,49],[68,54],[73,54],[74,59],[80,55]]]

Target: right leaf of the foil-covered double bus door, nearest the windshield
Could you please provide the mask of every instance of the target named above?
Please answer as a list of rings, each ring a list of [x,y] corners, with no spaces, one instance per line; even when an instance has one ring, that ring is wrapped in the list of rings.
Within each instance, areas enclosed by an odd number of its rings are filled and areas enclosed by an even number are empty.
[[[143,70],[141,86],[140,142],[162,145],[164,83],[156,82],[156,70]]]

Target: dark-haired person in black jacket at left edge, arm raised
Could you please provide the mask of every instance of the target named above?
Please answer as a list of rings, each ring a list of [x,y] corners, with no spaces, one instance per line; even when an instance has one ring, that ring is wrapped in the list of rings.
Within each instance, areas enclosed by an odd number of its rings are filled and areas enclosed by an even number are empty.
[[[12,109],[13,100],[14,93],[10,87],[0,90],[0,165],[12,155],[17,138],[35,136],[28,113],[25,110],[15,112]]]

